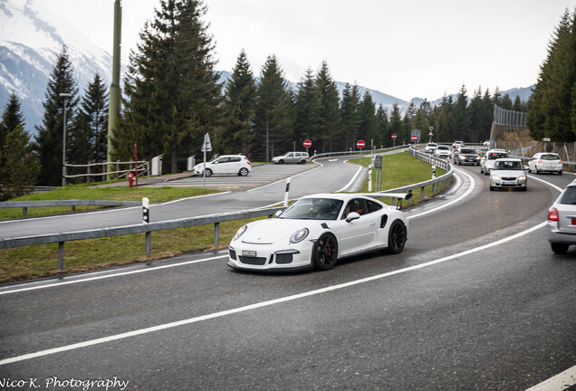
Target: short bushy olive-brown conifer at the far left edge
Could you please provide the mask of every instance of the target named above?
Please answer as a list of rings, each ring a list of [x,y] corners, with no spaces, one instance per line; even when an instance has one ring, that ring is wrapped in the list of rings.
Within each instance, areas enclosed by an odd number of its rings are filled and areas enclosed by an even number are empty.
[[[4,201],[17,196],[32,193],[36,177],[40,172],[40,163],[36,157],[30,135],[22,125],[17,124],[5,138],[5,144],[0,149],[0,200]]]

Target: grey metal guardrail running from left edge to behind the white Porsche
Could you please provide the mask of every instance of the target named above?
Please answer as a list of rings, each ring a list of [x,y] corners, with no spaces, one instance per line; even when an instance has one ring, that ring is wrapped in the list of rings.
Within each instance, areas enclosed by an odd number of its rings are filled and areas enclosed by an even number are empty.
[[[138,203],[139,204],[139,203]],[[141,205],[141,204],[139,204]],[[284,210],[284,206],[268,209],[256,209],[252,211],[235,212],[222,215],[200,216],[200,217],[187,217],[178,220],[168,220],[164,222],[149,223],[149,224],[133,224],[113,228],[101,228],[90,231],[77,231],[62,234],[45,234],[40,236],[18,237],[18,238],[5,238],[0,239],[0,249],[22,247],[35,244],[58,243],[58,269],[62,270],[64,267],[64,243],[97,239],[101,237],[121,236],[125,234],[146,234],[146,254],[151,255],[152,236],[153,231],[162,231],[174,228],[186,228],[196,225],[214,224],[214,245],[218,245],[218,236],[220,234],[220,223],[241,220],[245,218],[262,217],[267,215],[272,217],[278,210]]]

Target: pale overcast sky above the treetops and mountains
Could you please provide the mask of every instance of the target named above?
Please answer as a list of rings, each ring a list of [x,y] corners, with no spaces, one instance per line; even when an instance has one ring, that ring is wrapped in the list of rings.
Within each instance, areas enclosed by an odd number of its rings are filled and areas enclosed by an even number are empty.
[[[114,0],[35,0],[112,52]],[[327,61],[335,81],[436,100],[528,87],[552,33],[576,0],[205,0],[218,71],[244,48],[254,75],[274,54],[287,79]],[[122,0],[122,57],[159,0]]]

